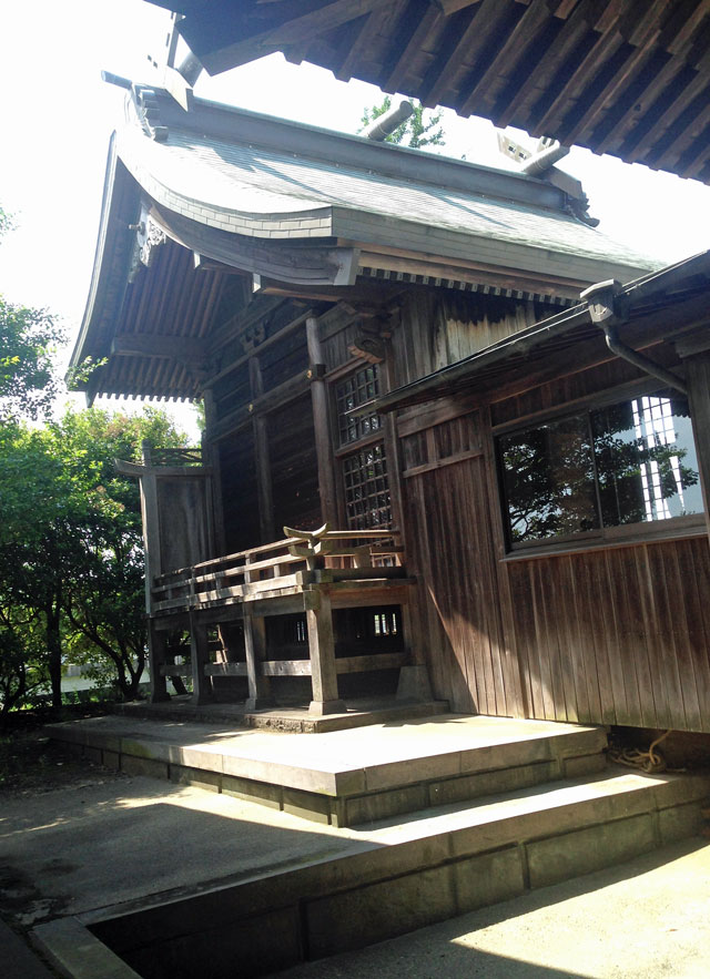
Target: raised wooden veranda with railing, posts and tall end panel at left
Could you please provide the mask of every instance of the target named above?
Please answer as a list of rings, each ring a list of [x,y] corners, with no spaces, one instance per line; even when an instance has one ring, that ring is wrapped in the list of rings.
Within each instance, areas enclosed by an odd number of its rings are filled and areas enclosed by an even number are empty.
[[[409,665],[404,639],[414,579],[396,530],[284,528],[282,540],[174,570],[174,557],[162,560],[176,553],[175,539],[186,555],[206,545],[200,517],[210,509],[211,473],[195,463],[199,450],[151,452],[146,446],[142,466],[118,463],[139,477],[143,511],[153,518],[145,540],[153,702],[169,698],[169,679],[182,691],[182,677],[190,676],[192,700],[202,704],[219,695],[220,683],[241,677],[246,710],[254,711],[274,705],[272,679],[307,677],[311,713],[339,713],[338,676]],[[194,524],[178,522],[187,501],[201,503],[190,511]],[[199,527],[202,533],[192,532]],[[367,612],[355,629],[338,629],[334,613],[345,610]],[[270,630],[270,620],[287,620],[287,628]],[[187,653],[189,665],[182,662]]]

